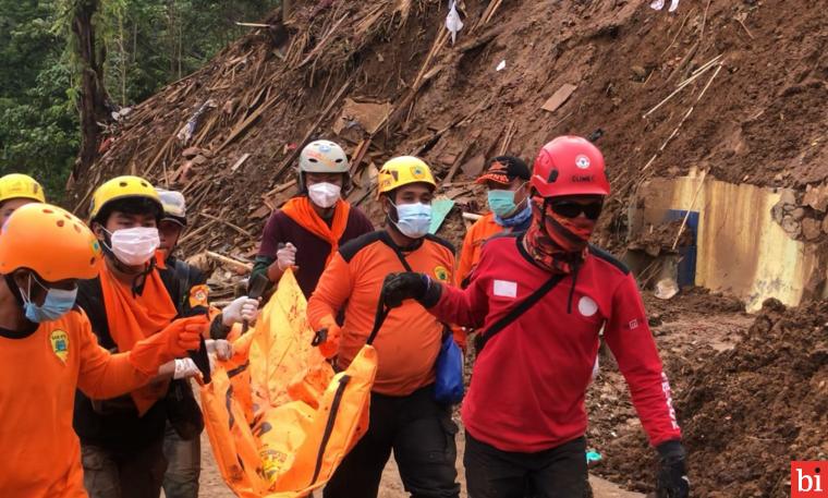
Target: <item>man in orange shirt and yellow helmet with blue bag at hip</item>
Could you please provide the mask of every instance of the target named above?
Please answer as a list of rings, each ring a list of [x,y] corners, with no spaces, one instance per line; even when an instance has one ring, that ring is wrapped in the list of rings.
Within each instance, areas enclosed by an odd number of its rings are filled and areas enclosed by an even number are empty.
[[[307,306],[315,330],[327,329],[327,356],[346,367],[374,326],[382,280],[406,267],[452,282],[454,250],[428,234],[436,183],[428,166],[398,157],[379,172],[386,228],[342,245]],[[344,311],[344,323],[336,317]],[[448,327],[410,301],[392,311],[376,336],[379,366],[367,433],[345,457],[325,498],[376,497],[391,450],[405,489],[415,498],[458,497],[456,425],[451,406],[434,399],[435,361]],[[338,348],[337,348],[338,344]]]

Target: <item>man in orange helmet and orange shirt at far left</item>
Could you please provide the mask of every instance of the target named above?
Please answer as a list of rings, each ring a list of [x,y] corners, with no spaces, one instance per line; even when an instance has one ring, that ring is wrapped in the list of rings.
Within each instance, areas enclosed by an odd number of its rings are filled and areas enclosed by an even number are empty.
[[[98,241],[65,210],[20,207],[0,234],[0,496],[86,497],[81,446],[72,429],[75,389],[93,398],[122,394],[159,367],[197,349],[203,317],[176,320],[129,353],[98,345],[75,305],[77,280],[100,268]]]

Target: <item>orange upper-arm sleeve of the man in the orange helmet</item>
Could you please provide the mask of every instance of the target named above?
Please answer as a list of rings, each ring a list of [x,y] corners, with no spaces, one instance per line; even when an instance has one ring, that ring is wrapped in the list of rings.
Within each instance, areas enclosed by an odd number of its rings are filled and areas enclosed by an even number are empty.
[[[130,353],[111,354],[98,345],[88,319],[78,333],[81,369],[77,388],[92,399],[109,399],[133,391],[150,380],[130,363]]]

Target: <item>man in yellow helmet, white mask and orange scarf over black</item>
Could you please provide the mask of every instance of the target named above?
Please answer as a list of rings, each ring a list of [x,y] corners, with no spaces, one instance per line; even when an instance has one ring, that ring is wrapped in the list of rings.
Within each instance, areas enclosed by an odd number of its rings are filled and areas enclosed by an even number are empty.
[[[186,290],[180,289],[174,271],[157,251],[162,212],[158,193],[138,177],[114,178],[93,194],[89,226],[105,258],[96,278],[78,282],[77,303],[99,343],[110,351],[130,351],[182,316],[175,304]],[[192,306],[193,314],[206,319],[206,296],[202,301],[203,305]],[[194,374],[190,359],[174,366],[172,380]],[[92,498],[160,495],[168,409],[182,408],[169,396],[172,380],[157,379],[117,399],[94,399],[77,391],[74,428]]]

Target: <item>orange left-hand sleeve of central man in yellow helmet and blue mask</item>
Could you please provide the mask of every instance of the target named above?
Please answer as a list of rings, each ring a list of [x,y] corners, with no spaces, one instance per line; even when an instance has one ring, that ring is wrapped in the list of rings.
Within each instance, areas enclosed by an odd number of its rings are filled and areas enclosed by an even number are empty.
[[[314,330],[336,327],[334,317],[345,305],[353,290],[351,268],[340,253],[337,253],[322,271],[310,300],[307,302],[307,319]],[[326,349],[332,349],[338,338],[329,337]]]

